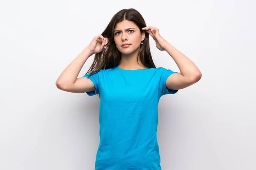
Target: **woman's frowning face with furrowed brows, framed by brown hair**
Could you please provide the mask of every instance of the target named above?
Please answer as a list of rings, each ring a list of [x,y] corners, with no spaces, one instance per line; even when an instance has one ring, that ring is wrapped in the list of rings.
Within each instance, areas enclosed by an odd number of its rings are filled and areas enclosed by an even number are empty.
[[[118,48],[122,54],[131,54],[136,51],[144,38],[145,33],[143,32],[143,34],[140,34],[140,28],[128,20],[123,20],[122,22],[117,23],[114,29],[116,48]]]

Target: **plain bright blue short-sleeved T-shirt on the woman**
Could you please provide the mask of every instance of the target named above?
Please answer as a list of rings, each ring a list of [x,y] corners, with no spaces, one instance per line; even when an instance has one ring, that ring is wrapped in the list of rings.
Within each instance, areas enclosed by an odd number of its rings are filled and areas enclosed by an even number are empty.
[[[88,77],[100,94],[99,136],[95,170],[161,170],[157,143],[158,102],[166,79],[176,73],[166,68],[103,69]]]

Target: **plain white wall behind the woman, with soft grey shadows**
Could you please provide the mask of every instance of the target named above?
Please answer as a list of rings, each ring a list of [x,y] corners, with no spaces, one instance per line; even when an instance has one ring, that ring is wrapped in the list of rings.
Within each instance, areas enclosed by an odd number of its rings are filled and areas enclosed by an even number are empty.
[[[0,170],[94,168],[99,98],[60,91],[55,81],[122,8],[140,11],[203,75],[160,99],[163,170],[256,169],[255,5],[252,0],[1,2]],[[179,71],[152,38],[150,43],[157,67]]]

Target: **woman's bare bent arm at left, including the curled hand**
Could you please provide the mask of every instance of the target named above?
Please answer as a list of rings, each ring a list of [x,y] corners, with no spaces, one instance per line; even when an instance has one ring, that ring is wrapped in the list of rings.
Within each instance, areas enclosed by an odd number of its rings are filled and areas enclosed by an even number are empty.
[[[90,45],[84,50],[65,68],[56,81],[58,89],[72,93],[85,93],[95,90],[93,82],[87,77],[78,77],[86,60],[93,54],[103,51],[106,48],[108,39],[102,35],[93,38]]]

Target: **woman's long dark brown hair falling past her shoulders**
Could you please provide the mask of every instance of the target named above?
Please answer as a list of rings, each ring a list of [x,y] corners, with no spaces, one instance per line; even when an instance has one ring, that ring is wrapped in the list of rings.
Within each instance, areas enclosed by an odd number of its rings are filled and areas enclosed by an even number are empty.
[[[140,28],[141,33],[145,32],[145,39],[143,40],[143,44],[140,45],[140,60],[145,67],[156,68],[149,48],[149,34],[142,30],[143,27],[146,27],[145,20],[139,11],[135,10],[134,8],[129,8],[122,9],[121,11],[117,12],[112,17],[108,26],[102,32],[102,36],[108,38],[109,40],[108,48],[103,48],[104,50],[102,52],[95,54],[93,64],[87,71],[87,73],[90,72],[90,76],[97,73],[101,69],[114,68],[119,65],[121,60],[121,52],[116,48],[116,44],[114,42],[114,29],[116,24],[122,22],[123,20],[133,22]]]

